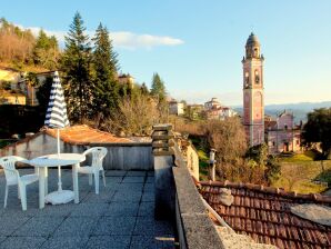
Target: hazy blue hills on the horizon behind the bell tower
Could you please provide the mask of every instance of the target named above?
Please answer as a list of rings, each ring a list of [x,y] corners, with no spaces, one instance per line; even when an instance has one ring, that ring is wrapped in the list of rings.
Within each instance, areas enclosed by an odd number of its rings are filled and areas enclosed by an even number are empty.
[[[283,110],[293,112],[294,121],[297,123],[302,120],[307,121],[307,113],[318,108],[330,108],[331,101],[322,101],[322,102],[299,102],[299,103],[281,103],[281,104],[268,104],[264,108],[265,114],[270,114],[272,117],[277,117]],[[242,107],[233,108],[239,113],[242,113]]]

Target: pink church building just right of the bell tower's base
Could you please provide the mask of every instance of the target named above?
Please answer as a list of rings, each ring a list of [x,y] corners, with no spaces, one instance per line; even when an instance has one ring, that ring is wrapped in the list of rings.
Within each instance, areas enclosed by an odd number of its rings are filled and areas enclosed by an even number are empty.
[[[294,123],[293,113],[284,110],[275,120],[264,119],[265,142],[269,153],[300,152],[302,123]]]

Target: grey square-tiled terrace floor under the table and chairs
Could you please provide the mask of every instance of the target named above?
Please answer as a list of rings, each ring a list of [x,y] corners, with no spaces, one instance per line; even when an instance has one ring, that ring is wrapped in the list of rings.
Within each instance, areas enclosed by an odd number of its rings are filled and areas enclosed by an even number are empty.
[[[20,169],[22,175],[33,169]],[[72,188],[71,170],[63,171],[63,187]],[[28,186],[28,210],[22,211],[17,188],[9,190],[0,209],[0,248],[174,248],[175,229],[154,219],[154,172],[107,170],[100,193],[79,178],[80,203],[38,205],[38,183]],[[4,176],[0,172],[0,206]],[[49,188],[57,189],[57,170]]]

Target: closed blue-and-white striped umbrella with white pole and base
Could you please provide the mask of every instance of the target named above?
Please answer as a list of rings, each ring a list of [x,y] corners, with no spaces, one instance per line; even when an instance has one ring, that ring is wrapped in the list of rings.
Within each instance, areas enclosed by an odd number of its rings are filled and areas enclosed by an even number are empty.
[[[67,104],[64,101],[63,89],[60,83],[60,78],[58,71],[54,72],[53,83],[51,87],[51,93],[49,99],[49,104],[46,113],[44,126],[57,129],[57,148],[58,156],[60,157],[60,129],[70,126],[67,114]],[[58,167],[58,191],[50,193],[51,198],[47,198],[47,201],[52,203],[66,203],[70,201],[72,191],[62,190],[61,181],[61,168]],[[56,200],[53,200],[56,199]],[[66,199],[68,201],[66,201]]]

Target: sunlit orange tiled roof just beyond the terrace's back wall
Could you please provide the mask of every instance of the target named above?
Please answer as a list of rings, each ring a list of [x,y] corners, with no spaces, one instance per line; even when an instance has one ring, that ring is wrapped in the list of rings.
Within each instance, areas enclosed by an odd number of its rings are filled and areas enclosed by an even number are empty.
[[[57,137],[57,129],[46,129],[44,132]],[[110,132],[93,129],[86,124],[61,129],[60,138],[62,141],[73,145],[132,142],[130,139],[119,138]]]

